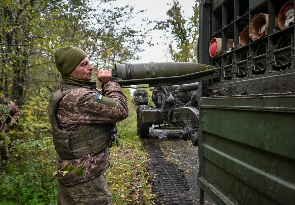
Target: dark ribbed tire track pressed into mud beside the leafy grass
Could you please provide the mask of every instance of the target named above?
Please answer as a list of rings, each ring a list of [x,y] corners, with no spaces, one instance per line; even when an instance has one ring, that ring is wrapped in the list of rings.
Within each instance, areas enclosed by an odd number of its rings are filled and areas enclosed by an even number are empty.
[[[161,149],[151,140],[143,145],[150,157],[151,184],[157,192],[157,204],[195,204],[184,172],[165,160]]]

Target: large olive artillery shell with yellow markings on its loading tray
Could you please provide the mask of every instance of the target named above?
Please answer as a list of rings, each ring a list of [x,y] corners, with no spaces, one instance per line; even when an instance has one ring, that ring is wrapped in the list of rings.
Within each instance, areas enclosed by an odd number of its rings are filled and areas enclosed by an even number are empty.
[[[115,64],[113,81],[120,85],[149,84],[150,87],[194,83],[215,77],[214,66],[189,63]]]

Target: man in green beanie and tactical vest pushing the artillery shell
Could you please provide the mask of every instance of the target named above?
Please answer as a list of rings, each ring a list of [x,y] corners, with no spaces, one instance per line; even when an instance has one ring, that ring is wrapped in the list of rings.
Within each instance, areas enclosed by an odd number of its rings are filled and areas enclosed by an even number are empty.
[[[118,144],[116,122],[128,116],[127,99],[111,71],[97,71],[101,89],[91,81],[93,66],[79,48],[55,51],[62,75],[51,94],[48,113],[53,142],[59,154],[58,170],[68,163],[83,168],[83,175],[58,175],[57,204],[112,204],[104,171],[110,164],[109,147]]]

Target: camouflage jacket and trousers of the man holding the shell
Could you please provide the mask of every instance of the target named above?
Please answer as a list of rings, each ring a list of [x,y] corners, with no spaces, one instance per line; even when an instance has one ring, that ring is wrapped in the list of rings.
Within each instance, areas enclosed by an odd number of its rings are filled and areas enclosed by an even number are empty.
[[[89,87],[96,89],[95,83],[91,82]],[[96,89],[101,95],[115,99],[115,107],[95,102],[93,97],[96,92],[84,88],[79,80],[77,83],[62,80],[57,90],[67,85],[81,88],[70,91],[57,106],[56,117],[61,130],[77,131],[88,125],[118,122],[127,118],[127,99],[118,83],[109,81],[102,85],[102,89]],[[109,149],[72,160],[59,158],[58,170],[68,163],[75,167],[82,166],[83,175],[78,177],[70,173],[62,179],[61,174],[58,175],[57,204],[112,204],[103,174],[110,164]]]

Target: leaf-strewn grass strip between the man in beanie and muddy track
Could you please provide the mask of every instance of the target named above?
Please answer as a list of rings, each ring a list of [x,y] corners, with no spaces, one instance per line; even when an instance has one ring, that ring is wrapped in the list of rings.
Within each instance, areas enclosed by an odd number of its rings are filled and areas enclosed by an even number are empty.
[[[122,126],[123,125],[123,126]],[[148,157],[136,135],[136,109],[118,127],[119,147],[111,149],[111,166],[105,172],[113,204],[155,204],[148,184]]]

